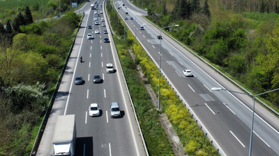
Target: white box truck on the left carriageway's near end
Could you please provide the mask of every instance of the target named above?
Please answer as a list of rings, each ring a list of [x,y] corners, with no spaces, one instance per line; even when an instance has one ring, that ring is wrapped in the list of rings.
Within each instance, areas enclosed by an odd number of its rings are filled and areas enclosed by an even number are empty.
[[[52,155],[75,155],[75,114],[57,116],[52,136]]]

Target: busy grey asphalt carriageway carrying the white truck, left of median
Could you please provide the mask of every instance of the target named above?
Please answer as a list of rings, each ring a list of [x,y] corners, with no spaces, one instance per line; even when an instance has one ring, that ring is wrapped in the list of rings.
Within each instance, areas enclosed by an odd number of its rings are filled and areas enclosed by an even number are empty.
[[[75,114],[77,127],[75,155],[146,155],[107,18],[105,13],[100,13],[101,10],[105,11],[100,7],[104,1],[98,2],[98,10],[90,8],[90,4],[94,1],[86,3],[80,10],[85,16],[64,75],[66,78],[63,77],[61,89],[59,88],[36,155],[51,154],[55,119],[57,115],[63,114]],[[98,18],[100,25],[94,24],[94,17]],[[100,18],[104,18],[105,21],[101,21]],[[102,26],[103,23],[105,26]],[[87,28],[89,25],[93,28]],[[100,34],[96,34],[96,30],[99,30]],[[108,34],[104,34],[104,30],[107,30]],[[92,33],[94,39],[88,40],[87,33]],[[104,43],[105,37],[111,42]],[[80,56],[83,58],[82,62]],[[112,63],[116,72],[106,73],[107,63]],[[93,83],[93,76],[96,74],[102,77],[103,83]],[[82,76],[83,85],[75,85],[76,76]],[[112,102],[119,103],[121,117],[110,118]],[[98,103],[100,116],[89,116],[91,103]]]

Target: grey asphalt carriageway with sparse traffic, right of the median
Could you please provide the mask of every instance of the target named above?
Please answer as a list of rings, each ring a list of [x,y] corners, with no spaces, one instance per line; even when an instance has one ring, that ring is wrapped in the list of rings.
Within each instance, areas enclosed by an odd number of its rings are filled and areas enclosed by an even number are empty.
[[[132,3],[123,0],[115,3],[119,15],[133,17],[125,20],[128,28],[142,44],[157,66],[159,64],[160,31],[142,18]],[[125,4],[125,7],[122,4]],[[119,4],[122,6],[117,9]],[[128,15],[125,14],[128,12]],[[137,17],[135,17],[137,16]],[[144,30],[140,30],[144,26]],[[175,29],[175,28],[174,28]],[[162,73],[180,95],[181,100],[202,123],[209,139],[221,155],[248,155],[250,126],[252,119],[252,98],[230,92],[213,92],[212,87],[242,92],[220,73],[163,34],[161,49]],[[183,69],[190,69],[194,77],[183,76]],[[256,103],[252,137],[252,155],[279,155],[279,120],[271,112]]]

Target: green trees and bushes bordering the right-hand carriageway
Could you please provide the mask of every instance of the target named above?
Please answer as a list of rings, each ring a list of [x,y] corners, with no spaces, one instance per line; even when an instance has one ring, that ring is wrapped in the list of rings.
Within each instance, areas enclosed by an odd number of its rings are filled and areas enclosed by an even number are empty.
[[[253,94],[279,88],[278,1],[134,1],[169,35]],[[261,96],[279,112],[279,92]]]

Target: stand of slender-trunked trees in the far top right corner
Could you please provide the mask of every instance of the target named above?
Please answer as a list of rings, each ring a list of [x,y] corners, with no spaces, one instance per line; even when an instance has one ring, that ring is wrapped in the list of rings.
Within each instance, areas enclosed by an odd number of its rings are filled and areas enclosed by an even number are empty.
[[[279,13],[278,0],[220,0],[227,10]]]

